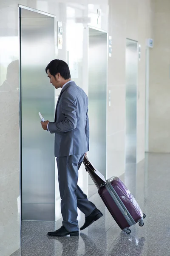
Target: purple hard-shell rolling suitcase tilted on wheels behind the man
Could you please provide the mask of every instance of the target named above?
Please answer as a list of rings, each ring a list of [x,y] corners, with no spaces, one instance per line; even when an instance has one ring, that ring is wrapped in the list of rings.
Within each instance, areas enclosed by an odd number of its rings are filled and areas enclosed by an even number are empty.
[[[143,219],[146,215],[142,213],[139,204],[125,184],[118,177],[105,180],[93,167],[87,156],[84,157],[83,163],[86,171],[96,184],[99,195],[105,203],[105,206],[108,208],[119,227],[127,234],[131,233],[129,227],[138,222],[139,226],[143,227]]]

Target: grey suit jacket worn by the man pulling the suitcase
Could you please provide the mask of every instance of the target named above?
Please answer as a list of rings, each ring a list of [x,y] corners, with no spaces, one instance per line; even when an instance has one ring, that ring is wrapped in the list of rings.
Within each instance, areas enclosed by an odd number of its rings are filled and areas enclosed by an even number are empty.
[[[48,130],[55,134],[55,157],[89,150],[88,96],[74,81],[61,90],[55,121],[49,122]]]

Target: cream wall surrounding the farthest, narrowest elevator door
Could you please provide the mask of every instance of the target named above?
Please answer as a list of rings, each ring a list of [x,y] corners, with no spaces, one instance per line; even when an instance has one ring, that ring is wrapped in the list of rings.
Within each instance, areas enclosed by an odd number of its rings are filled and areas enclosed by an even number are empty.
[[[108,59],[108,174],[125,172],[125,50],[126,38],[141,44],[138,68],[137,162],[144,159],[145,137],[145,49],[152,37],[153,6],[151,0],[109,0],[109,35],[112,36],[112,57]]]

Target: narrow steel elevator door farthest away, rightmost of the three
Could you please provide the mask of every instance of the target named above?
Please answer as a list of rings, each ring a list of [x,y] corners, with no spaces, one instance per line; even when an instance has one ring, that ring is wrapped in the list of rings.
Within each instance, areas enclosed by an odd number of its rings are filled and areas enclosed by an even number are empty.
[[[126,41],[126,163],[136,163],[138,43]]]

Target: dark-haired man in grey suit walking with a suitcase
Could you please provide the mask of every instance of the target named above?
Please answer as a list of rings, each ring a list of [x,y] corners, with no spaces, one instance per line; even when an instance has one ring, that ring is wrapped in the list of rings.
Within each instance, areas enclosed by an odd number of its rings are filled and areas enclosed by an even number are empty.
[[[78,236],[77,207],[85,214],[85,229],[102,217],[96,206],[77,185],[78,170],[89,150],[88,97],[71,80],[68,64],[51,61],[45,69],[50,83],[62,88],[58,98],[54,122],[41,122],[44,130],[55,134],[59,192],[61,197],[62,227],[49,236]]]

